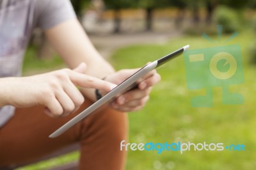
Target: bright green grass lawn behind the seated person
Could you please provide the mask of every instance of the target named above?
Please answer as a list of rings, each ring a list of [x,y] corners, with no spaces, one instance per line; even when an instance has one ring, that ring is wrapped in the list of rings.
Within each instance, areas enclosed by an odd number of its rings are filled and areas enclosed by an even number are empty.
[[[248,45],[253,38],[252,35],[250,31],[244,31],[227,43],[227,45],[233,43],[241,45],[245,82],[232,87],[232,91],[243,95],[243,105],[221,104],[221,88],[214,88],[214,107],[191,107],[191,98],[204,93],[204,89],[188,90],[184,61],[180,56],[159,68],[162,81],[154,87],[147,106],[142,111],[129,114],[130,143],[150,141],[204,143],[205,141],[206,143],[244,144],[246,151],[186,151],[183,154],[175,151],[163,151],[161,154],[157,154],[156,151],[129,151],[128,170],[255,169],[256,68],[250,65],[248,57]],[[218,39],[217,36],[213,38]],[[228,36],[223,36],[223,40],[227,38]],[[132,45],[119,49],[113,54],[111,63],[117,70],[139,67],[186,44],[190,44],[191,49],[214,47],[214,44],[202,37],[183,36],[170,40],[164,45]],[[79,157],[78,153],[72,153],[63,159],[51,161],[55,162],[54,164],[62,164],[77,157]],[[51,161],[37,164],[30,169],[45,169],[52,166]],[[28,170],[29,167],[24,169]]]

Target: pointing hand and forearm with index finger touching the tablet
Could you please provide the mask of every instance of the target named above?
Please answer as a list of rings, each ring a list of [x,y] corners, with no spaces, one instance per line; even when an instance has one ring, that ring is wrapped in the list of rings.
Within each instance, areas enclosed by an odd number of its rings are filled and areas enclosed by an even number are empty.
[[[61,69],[30,77],[0,79],[0,106],[31,107],[44,105],[52,117],[65,116],[76,111],[84,97],[76,86],[110,91],[115,84],[84,74],[82,63],[74,70]]]

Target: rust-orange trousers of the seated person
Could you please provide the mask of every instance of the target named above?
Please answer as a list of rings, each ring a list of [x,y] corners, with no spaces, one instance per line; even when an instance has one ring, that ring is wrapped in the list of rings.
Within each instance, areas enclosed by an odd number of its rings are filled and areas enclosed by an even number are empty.
[[[90,104],[86,101],[79,111],[64,118],[50,118],[39,106],[17,109],[0,128],[0,167],[26,164],[79,142],[79,169],[124,169],[125,151],[120,151],[120,142],[127,139],[125,113],[104,106],[59,137],[48,137]]]

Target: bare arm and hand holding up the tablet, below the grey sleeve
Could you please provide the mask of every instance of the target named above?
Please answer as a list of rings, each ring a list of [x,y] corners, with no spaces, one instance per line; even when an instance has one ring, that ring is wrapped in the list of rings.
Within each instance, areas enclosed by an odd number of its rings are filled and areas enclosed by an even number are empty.
[[[83,27],[76,19],[63,22],[45,31],[45,33],[70,68],[74,68],[79,63],[84,62],[88,65],[86,74],[100,79],[106,77],[106,81],[114,84],[119,84],[135,72],[135,70],[115,72],[113,67],[95,50]],[[112,107],[124,112],[140,110],[147,103],[151,87],[160,80],[160,76],[155,70],[150,74],[152,75],[150,78],[138,84],[138,89],[116,98],[111,103]],[[82,92],[95,101],[94,89],[83,89]],[[106,93],[106,91],[103,91],[103,93]]]

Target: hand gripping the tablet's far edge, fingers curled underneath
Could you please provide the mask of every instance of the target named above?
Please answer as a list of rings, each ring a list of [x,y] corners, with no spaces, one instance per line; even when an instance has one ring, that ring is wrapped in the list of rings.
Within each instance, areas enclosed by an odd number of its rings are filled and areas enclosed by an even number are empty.
[[[105,80],[114,84],[120,84],[136,71],[138,71],[138,69],[120,70],[119,72],[108,75]],[[138,88],[120,95],[111,102],[111,106],[123,112],[138,111],[142,109],[149,99],[149,93],[152,86],[159,82],[160,79],[161,77],[156,70],[147,73],[147,75],[138,80]]]

